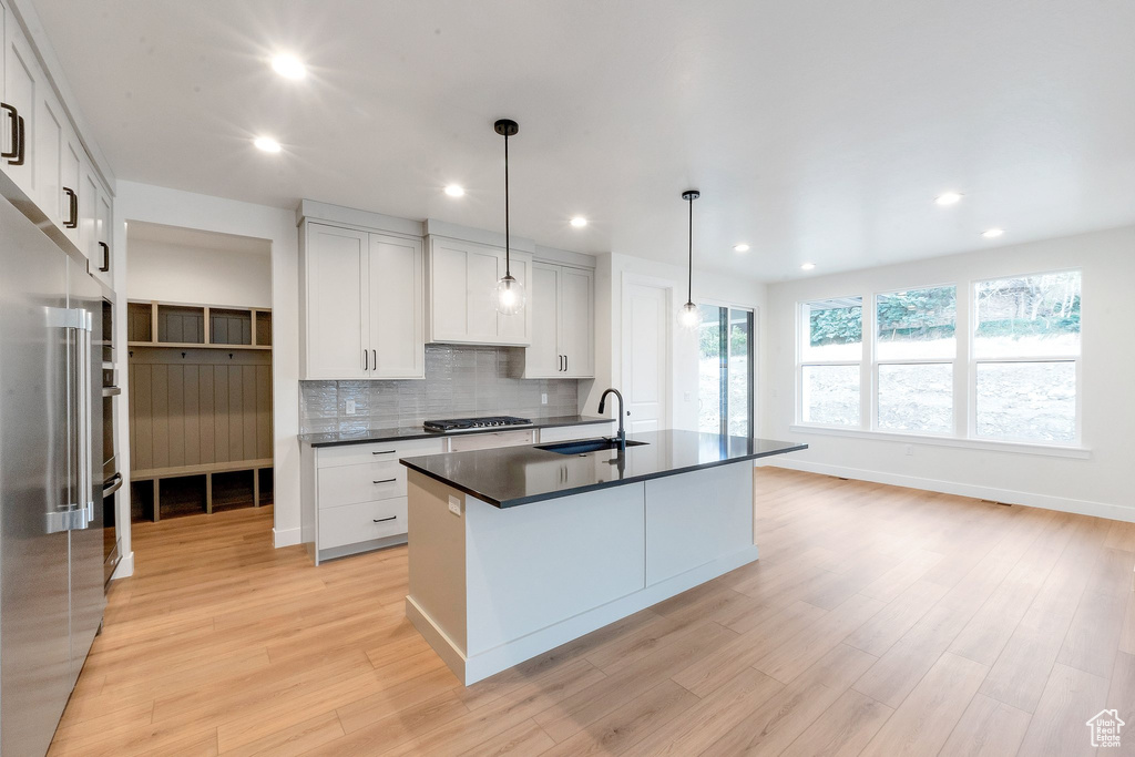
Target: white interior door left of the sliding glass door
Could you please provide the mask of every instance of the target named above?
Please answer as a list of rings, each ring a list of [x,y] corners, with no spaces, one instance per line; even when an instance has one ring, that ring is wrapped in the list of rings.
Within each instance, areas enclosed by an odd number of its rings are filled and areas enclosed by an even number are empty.
[[[670,289],[625,284],[622,318],[627,430],[670,428]]]

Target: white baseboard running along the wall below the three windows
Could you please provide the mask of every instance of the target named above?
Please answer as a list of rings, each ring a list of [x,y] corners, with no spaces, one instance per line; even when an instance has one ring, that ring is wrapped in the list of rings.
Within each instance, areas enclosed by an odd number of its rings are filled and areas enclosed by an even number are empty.
[[[1026,507],[1041,507],[1043,510],[1058,510],[1065,513],[1076,513],[1077,515],[1093,515],[1095,518],[1107,518],[1113,521],[1135,522],[1135,507],[1123,507],[1111,505],[1105,502],[1092,502],[1090,499],[1071,499],[1070,497],[1053,497],[1046,494],[1034,494],[1032,491],[1016,491],[1012,489],[999,489],[997,487],[977,486],[973,483],[961,483],[958,481],[941,481],[938,479],[919,478],[917,476],[902,476],[901,473],[884,473],[881,471],[868,471],[860,468],[844,468],[842,465],[827,465],[825,463],[813,463],[802,460],[777,459],[766,463],[772,468],[787,468],[807,473],[822,473],[824,476],[836,476],[857,481],[871,481],[873,483],[889,483],[891,486],[902,486],[910,489],[924,489],[926,491],[940,491],[942,494],[955,494],[961,497],[974,497],[976,499],[990,499],[992,502],[1003,502],[1011,505],[1025,505]]]

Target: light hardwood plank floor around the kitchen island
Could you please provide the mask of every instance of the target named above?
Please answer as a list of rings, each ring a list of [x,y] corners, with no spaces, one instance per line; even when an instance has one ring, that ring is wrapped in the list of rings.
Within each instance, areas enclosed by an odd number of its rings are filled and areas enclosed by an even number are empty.
[[[134,528],[53,755],[1135,755],[1135,524],[758,469],[762,558],[463,688],[404,547]]]

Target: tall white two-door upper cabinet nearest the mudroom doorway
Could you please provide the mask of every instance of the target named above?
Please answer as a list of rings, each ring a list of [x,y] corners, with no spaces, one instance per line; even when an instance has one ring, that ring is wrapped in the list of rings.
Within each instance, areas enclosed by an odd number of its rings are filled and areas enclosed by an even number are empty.
[[[422,378],[421,241],[304,224],[306,379]]]

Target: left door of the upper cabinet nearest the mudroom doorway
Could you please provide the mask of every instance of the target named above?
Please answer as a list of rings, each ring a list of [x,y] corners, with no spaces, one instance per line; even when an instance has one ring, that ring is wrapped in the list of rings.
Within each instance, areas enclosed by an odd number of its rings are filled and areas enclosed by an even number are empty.
[[[370,376],[370,235],[308,225],[306,378]]]

